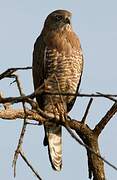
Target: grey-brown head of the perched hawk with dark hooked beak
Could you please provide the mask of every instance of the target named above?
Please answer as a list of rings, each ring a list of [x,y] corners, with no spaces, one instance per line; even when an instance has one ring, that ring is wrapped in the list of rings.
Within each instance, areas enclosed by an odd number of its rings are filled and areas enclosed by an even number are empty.
[[[67,10],[56,10],[49,14],[45,20],[44,28],[57,30],[71,28],[71,13]]]

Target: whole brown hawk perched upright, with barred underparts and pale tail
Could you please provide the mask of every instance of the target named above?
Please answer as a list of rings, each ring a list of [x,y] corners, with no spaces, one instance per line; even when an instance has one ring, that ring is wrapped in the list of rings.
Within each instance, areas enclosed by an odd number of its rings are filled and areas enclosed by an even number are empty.
[[[77,93],[83,70],[80,41],[72,30],[71,13],[56,10],[48,15],[33,51],[33,81],[37,89],[43,83],[50,92]],[[36,97],[39,107],[56,117],[64,117],[75,96],[43,94]],[[62,166],[61,126],[50,122],[45,127],[44,145],[48,145],[52,167]]]

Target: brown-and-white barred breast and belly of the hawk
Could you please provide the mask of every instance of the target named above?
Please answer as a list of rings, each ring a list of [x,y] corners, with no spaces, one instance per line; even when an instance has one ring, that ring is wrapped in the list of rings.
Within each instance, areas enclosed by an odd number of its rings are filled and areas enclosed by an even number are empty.
[[[73,50],[71,55],[46,49],[45,71],[48,86],[54,92],[75,93],[82,72],[82,52]]]

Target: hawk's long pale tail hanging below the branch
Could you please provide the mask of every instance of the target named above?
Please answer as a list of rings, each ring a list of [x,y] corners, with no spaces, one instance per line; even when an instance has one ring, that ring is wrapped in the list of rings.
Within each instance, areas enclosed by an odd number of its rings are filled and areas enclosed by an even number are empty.
[[[48,154],[54,170],[62,167],[62,127],[56,123],[45,126],[44,145],[48,145]]]

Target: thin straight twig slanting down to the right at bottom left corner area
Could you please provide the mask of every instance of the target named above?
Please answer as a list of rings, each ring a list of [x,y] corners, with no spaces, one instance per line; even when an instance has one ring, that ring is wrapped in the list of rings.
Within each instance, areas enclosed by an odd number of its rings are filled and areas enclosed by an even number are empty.
[[[24,153],[20,150],[20,155],[22,157],[22,159],[26,162],[26,164],[29,166],[29,168],[32,170],[32,172],[35,174],[35,176],[39,179],[42,180],[42,178],[40,177],[40,175],[38,174],[37,171],[35,171],[35,169],[32,167],[31,163],[27,160],[26,156],[24,155]]]

